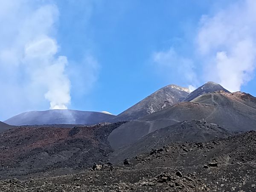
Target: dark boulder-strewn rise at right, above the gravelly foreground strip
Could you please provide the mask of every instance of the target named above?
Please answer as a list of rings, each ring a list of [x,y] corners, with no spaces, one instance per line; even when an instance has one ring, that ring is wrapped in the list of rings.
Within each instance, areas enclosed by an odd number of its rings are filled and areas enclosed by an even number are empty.
[[[157,167],[208,167],[229,164],[256,163],[256,132],[236,134],[226,138],[215,138],[207,142],[170,142],[131,159],[138,168]],[[215,163],[215,164],[214,164]],[[208,167],[205,166],[207,169]]]

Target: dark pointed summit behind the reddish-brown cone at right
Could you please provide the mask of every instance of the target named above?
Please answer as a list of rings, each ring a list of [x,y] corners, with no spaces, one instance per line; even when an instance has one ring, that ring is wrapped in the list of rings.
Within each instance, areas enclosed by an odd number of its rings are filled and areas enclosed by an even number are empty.
[[[212,93],[215,91],[223,90],[226,93],[230,93],[228,90],[223,88],[221,85],[215,82],[207,82],[201,87],[197,88],[196,90],[189,93],[189,95],[184,99],[184,102],[190,102],[191,100],[195,99],[196,97],[203,95],[205,93]]]

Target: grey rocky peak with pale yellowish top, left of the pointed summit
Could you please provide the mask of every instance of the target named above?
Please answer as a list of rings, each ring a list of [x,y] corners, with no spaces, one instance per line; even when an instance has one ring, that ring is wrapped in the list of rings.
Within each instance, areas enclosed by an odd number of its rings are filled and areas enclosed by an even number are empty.
[[[134,106],[120,113],[111,121],[130,121],[139,117],[155,113],[182,101],[189,95],[189,89],[177,85],[163,87]]]

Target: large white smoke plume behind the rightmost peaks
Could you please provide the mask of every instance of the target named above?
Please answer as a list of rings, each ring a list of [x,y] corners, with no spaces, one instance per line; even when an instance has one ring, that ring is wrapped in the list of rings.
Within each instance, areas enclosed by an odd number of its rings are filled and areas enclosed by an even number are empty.
[[[253,78],[256,68],[256,1],[241,0],[212,17],[204,16],[198,51],[207,64],[207,79],[230,91]]]

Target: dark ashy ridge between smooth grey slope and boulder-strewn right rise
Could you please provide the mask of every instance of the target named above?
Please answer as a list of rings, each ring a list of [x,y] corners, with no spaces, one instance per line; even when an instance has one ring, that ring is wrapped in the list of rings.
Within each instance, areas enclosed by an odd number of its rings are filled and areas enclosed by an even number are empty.
[[[150,152],[151,149],[157,149],[174,142],[207,142],[215,138],[227,138],[235,134],[237,133],[216,124],[208,124],[206,121],[183,121],[149,133],[134,144],[116,149],[111,154],[110,159],[113,163],[118,163],[125,158]]]

